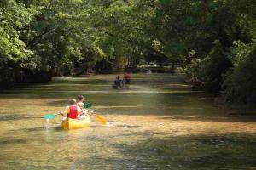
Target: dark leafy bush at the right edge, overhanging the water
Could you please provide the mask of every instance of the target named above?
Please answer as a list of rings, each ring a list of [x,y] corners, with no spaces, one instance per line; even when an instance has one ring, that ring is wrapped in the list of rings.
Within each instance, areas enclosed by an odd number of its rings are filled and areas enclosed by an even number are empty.
[[[236,65],[224,81],[224,97],[228,102],[256,104],[256,48],[236,44],[231,51]],[[242,55],[241,55],[242,54]]]

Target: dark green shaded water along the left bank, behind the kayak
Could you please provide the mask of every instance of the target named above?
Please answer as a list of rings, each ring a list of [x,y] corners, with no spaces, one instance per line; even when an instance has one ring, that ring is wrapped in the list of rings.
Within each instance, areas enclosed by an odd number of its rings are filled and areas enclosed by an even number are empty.
[[[43,85],[20,86],[11,90],[4,90],[0,96],[4,99],[38,99],[38,98],[63,98],[64,96],[80,94],[83,91],[96,91],[106,84],[104,80],[60,78]]]

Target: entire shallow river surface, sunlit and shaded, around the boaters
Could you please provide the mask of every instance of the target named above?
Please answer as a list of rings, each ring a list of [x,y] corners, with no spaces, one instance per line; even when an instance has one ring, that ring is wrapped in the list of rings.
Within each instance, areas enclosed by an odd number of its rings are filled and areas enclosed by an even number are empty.
[[[0,169],[255,169],[253,116],[193,92],[182,75],[135,75],[129,89],[114,75],[55,78],[0,94]],[[83,94],[87,129],[61,129],[68,100]]]

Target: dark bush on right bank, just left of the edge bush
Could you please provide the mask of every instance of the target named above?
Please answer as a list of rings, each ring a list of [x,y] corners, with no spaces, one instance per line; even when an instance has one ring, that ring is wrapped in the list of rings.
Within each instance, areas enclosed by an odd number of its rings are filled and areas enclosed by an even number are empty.
[[[221,89],[224,82],[223,76],[232,66],[220,42],[214,43],[212,51],[204,59],[192,60],[185,69],[191,82],[195,82],[196,85],[200,82],[200,87],[203,85],[203,88],[211,93],[216,93]]]

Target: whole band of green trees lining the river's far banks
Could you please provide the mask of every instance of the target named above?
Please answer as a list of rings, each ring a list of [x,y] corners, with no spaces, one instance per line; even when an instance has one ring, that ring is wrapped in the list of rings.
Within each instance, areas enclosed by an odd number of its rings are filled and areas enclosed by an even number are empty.
[[[2,0],[0,88],[156,63],[227,101],[255,103],[255,8],[254,0]]]

